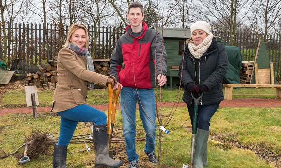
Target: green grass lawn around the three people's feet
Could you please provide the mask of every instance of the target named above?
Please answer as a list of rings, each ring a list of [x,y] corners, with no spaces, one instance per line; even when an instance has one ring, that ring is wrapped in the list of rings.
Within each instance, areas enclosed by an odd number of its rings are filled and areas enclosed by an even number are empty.
[[[234,92],[251,92],[251,89],[234,89]],[[259,92],[275,92],[274,89],[260,89]],[[159,89],[157,89],[159,93]],[[255,90],[256,93],[256,90]],[[39,106],[50,106],[53,91],[38,90]],[[107,90],[94,90],[88,93],[89,104],[105,104],[108,102]],[[181,93],[177,90],[162,89],[162,102],[174,102],[175,98],[181,101]],[[235,98],[235,97],[234,97]],[[237,97],[237,98],[241,98]],[[242,97],[243,98],[243,97]],[[272,98],[272,97],[270,97]],[[25,107],[25,92],[23,89],[12,90],[6,93],[1,100],[0,108]],[[106,112],[106,111],[105,111]],[[159,143],[159,130],[156,138],[156,154],[159,155],[161,145],[161,165],[181,168],[183,164],[190,163],[191,124],[186,107],[172,109],[162,108],[162,123],[168,120],[170,112],[174,113],[172,119],[165,126],[170,132],[163,133]],[[107,113],[107,112],[106,112]],[[137,153],[140,155],[139,168],[153,168],[147,163],[143,154],[144,132],[141,119],[137,115]],[[14,152],[26,140],[34,138],[34,135],[47,135],[56,138],[59,133],[60,118],[54,113],[38,113],[37,118],[32,114],[8,114],[0,116],[0,148],[7,154]],[[157,121],[157,126],[159,122]],[[115,135],[112,140],[114,156],[124,161],[127,168],[124,138],[122,137],[122,118],[117,110],[115,119]],[[42,134],[42,135],[41,135]],[[68,146],[68,152],[76,152],[67,155],[68,168],[94,168],[94,150],[88,135],[91,134],[91,123],[78,123],[72,143]],[[51,145],[44,156],[42,151],[31,158],[31,161],[19,165],[19,159],[23,156],[24,148],[20,148],[17,154],[2,158],[0,168],[52,168]],[[211,119],[210,140],[208,141],[208,168],[279,168],[281,166],[281,107],[278,108],[219,108]],[[86,140],[83,142],[82,140]],[[88,140],[88,141],[87,141]],[[214,143],[216,140],[219,143]],[[79,143],[74,143],[79,141]],[[86,149],[90,151],[78,152]],[[34,153],[34,152],[33,152]],[[34,155],[34,154],[29,154]]]

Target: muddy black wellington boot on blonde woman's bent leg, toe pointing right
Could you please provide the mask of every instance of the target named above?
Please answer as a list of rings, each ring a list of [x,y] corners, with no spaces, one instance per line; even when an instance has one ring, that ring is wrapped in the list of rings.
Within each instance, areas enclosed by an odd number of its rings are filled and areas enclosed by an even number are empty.
[[[96,167],[107,166],[117,168],[123,164],[121,160],[113,160],[108,155],[107,127],[106,125],[94,125],[94,150]]]

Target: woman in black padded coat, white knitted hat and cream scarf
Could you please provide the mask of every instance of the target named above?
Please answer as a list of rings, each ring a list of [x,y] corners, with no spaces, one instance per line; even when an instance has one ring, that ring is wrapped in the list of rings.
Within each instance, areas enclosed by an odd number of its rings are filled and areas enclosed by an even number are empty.
[[[197,21],[190,26],[191,38],[187,40],[180,63],[179,77],[184,85],[183,100],[193,123],[194,95],[202,94],[198,106],[197,133],[195,139],[194,168],[208,166],[207,141],[211,117],[224,99],[222,80],[227,71],[228,56],[224,45],[218,43],[211,26]]]

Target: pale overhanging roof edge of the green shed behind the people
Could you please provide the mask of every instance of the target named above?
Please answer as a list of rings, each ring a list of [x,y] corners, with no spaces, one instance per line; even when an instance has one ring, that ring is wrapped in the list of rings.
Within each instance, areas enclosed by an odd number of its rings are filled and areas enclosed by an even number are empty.
[[[154,27],[156,30],[156,27]],[[157,31],[162,33],[162,28],[157,27]],[[186,33],[186,34],[185,34]],[[163,37],[169,37],[169,38],[190,38],[190,29],[187,28],[163,28]]]

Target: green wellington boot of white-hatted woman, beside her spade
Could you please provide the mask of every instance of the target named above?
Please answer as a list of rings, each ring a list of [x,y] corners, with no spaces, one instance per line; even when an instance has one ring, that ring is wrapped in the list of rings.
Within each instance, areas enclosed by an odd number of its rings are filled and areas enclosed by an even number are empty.
[[[209,131],[203,129],[197,129],[195,138],[195,151],[194,151],[194,168],[203,168],[208,166],[207,154],[208,154],[208,138]]]

